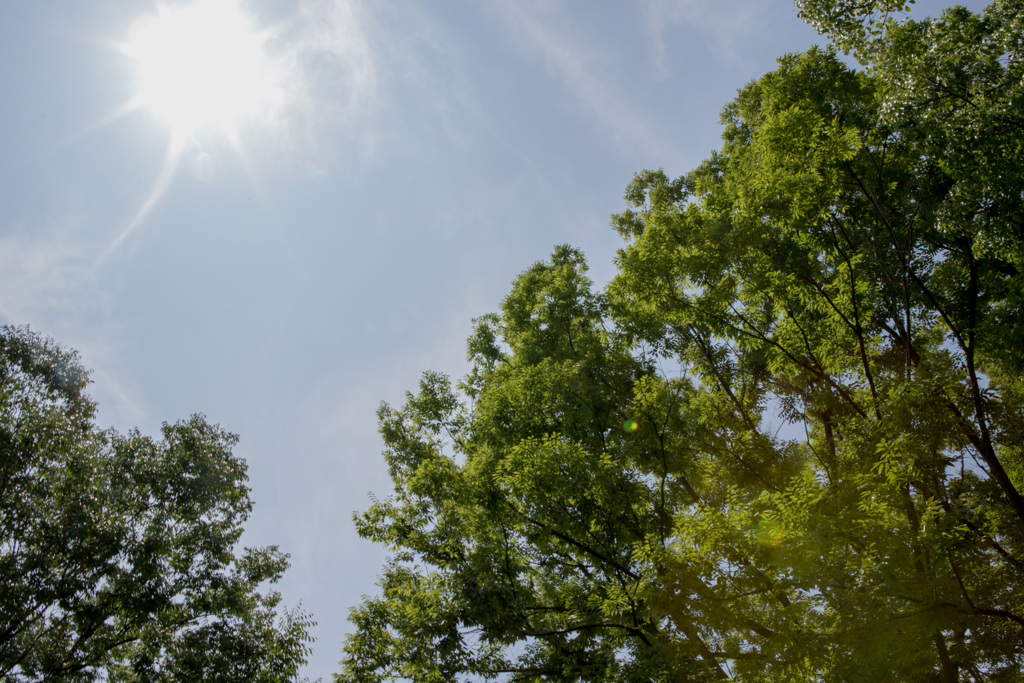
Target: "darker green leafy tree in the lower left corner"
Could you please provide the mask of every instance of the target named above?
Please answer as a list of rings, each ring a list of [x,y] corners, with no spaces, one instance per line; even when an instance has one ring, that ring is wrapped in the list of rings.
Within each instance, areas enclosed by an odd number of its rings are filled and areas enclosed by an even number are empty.
[[[286,555],[236,552],[237,437],[101,431],[87,384],[73,351],[0,330],[0,678],[294,680],[312,622],[259,590]]]

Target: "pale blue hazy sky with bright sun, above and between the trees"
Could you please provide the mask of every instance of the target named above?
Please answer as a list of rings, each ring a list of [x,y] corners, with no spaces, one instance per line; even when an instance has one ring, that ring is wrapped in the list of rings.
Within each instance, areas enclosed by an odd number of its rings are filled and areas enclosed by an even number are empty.
[[[634,173],[821,42],[790,0],[0,2],[0,324],[78,349],[103,427],[240,434],[243,542],[290,553],[329,681],[385,559],[380,402],[465,374],[555,245],[610,279]]]

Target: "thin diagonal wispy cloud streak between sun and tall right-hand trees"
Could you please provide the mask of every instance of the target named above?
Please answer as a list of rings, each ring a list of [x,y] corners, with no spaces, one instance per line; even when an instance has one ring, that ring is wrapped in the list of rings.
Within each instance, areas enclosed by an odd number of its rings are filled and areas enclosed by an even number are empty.
[[[565,84],[618,147],[643,155],[660,152],[658,136],[607,76],[607,51],[570,28],[561,3],[504,0],[493,6],[513,37],[541,54],[549,73]]]

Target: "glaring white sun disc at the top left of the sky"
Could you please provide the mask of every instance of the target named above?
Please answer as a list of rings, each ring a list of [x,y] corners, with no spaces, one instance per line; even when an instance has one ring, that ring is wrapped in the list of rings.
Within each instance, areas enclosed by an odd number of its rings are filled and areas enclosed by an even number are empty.
[[[183,140],[218,127],[233,136],[240,122],[280,99],[276,70],[238,0],[158,5],[134,23],[124,52],[134,60],[134,104],[165,121]]]

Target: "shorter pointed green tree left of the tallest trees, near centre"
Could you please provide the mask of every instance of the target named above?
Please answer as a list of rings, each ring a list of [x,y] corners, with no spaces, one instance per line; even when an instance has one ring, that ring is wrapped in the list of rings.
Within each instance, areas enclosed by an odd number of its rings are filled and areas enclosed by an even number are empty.
[[[381,408],[396,495],[357,526],[397,554],[353,612],[346,680],[663,670],[640,557],[680,492],[652,483],[664,464],[622,428],[650,372],[604,331],[585,270],[558,249],[479,322],[458,393],[428,373],[403,409]]]

